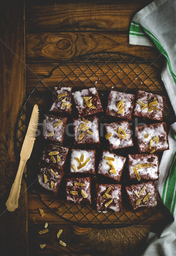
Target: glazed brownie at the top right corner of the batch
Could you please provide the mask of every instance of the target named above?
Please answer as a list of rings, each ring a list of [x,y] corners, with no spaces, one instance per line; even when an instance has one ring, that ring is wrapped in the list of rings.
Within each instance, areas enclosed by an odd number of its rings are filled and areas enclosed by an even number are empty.
[[[162,121],[165,102],[166,98],[163,96],[139,90],[136,94],[133,115]]]

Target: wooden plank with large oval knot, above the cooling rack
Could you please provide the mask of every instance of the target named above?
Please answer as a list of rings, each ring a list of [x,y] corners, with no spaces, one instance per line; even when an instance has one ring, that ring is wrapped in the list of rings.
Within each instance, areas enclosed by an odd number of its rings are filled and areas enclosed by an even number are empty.
[[[38,32],[26,35],[27,62],[63,62],[90,52],[123,52],[153,61],[152,47],[128,44],[128,34],[115,32]]]

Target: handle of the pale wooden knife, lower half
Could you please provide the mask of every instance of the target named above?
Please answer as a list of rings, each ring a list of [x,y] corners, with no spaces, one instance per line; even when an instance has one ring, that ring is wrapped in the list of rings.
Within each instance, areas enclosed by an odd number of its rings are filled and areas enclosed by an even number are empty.
[[[6,207],[9,212],[14,212],[14,210],[18,208],[18,199],[19,199],[20,189],[21,189],[21,179],[23,176],[25,165],[26,165],[26,160],[20,160],[17,175],[11,187],[9,198],[6,201]]]

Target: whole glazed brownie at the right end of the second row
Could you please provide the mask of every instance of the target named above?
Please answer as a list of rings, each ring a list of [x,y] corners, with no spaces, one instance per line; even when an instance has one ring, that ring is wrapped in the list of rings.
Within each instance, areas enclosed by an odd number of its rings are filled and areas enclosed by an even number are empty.
[[[164,151],[169,149],[166,123],[137,126],[136,137],[139,152]]]

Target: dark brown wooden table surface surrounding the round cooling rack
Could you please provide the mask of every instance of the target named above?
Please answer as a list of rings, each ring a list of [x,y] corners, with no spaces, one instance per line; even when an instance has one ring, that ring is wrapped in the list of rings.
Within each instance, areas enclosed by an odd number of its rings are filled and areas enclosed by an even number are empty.
[[[165,208],[140,225],[116,229],[80,228],[56,219],[27,193],[22,181],[19,207],[5,203],[18,163],[15,128],[24,99],[49,71],[72,57],[88,52],[118,51],[152,62],[159,52],[128,44],[132,17],[151,0],[4,0],[0,8],[0,251],[4,255],[140,255],[148,233],[160,232],[171,220]],[[162,69],[161,58],[155,61]],[[41,217],[38,208],[45,216]],[[48,222],[49,232],[40,236]],[[63,230],[62,241],[56,234]],[[39,244],[47,244],[42,250]],[[17,253],[17,254],[16,254]],[[1,254],[3,255],[3,254]],[[134,255],[134,254],[133,254]]]

